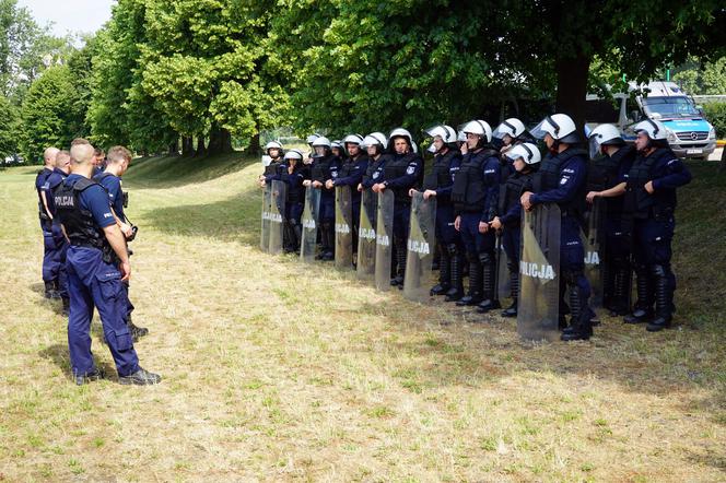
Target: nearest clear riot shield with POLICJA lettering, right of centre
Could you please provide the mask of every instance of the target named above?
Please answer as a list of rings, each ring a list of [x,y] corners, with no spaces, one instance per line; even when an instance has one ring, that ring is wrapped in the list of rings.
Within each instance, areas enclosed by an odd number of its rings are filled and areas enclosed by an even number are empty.
[[[540,204],[524,213],[517,332],[554,340],[560,306],[560,208]]]

